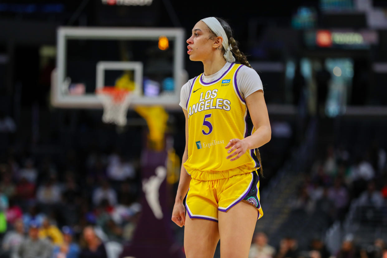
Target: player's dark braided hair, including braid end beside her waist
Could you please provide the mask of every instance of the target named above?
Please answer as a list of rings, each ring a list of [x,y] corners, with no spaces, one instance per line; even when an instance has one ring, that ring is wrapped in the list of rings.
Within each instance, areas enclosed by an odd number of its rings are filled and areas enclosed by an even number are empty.
[[[236,41],[233,38],[233,30],[231,29],[228,22],[226,22],[223,19],[218,18],[218,17],[215,17],[215,18],[220,22],[221,26],[223,27],[224,31],[226,32],[226,35],[228,38],[228,43],[231,44],[231,48],[233,48],[231,51],[234,53],[236,60],[238,60],[238,62],[241,63],[242,65],[246,65],[247,67],[252,68],[250,63],[248,63],[248,61],[247,61],[247,56],[239,50],[238,41]],[[211,29],[209,29],[209,31],[211,33],[210,39],[215,38],[216,34]],[[224,54],[225,52],[226,52],[226,50],[222,46],[222,54]],[[257,158],[258,158],[259,164],[260,164],[261,176],[263,176],[261,154],[260,154],[258,149],[256,149],[256,153],[257,153]]]

